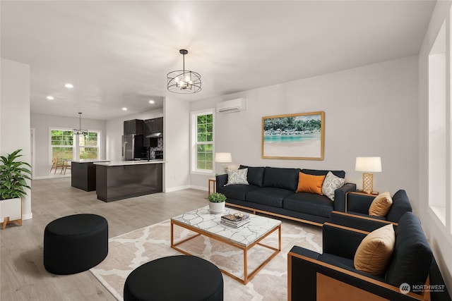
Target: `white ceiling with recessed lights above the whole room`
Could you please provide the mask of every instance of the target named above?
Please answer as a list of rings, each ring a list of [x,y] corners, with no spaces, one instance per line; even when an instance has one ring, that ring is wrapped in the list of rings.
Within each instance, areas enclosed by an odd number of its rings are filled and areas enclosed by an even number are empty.
[[[202,91],[172,97],[206,99],[417,55],[435,4],[0,1],[1,57],[30,65],[32,112],[106,120],[161,106],[179,49]]]

